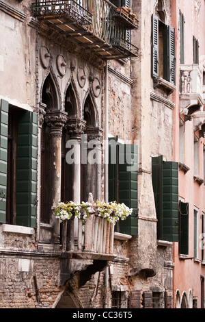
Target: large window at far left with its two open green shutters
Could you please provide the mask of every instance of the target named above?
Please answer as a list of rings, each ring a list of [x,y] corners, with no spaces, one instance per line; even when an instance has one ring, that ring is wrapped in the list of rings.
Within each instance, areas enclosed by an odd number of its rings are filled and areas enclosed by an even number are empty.
[[[38,116],[1,99],[0,128],[0,222],[36,227]]]

